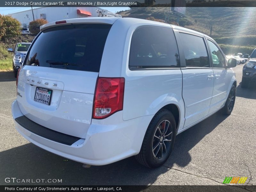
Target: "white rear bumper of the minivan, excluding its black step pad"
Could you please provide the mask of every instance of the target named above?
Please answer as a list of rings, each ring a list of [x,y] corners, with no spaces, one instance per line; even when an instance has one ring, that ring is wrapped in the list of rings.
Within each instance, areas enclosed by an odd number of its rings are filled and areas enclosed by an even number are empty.
[[[12,116],[24,116],[16,100],[12,103]],[[106,119],[92,119],[86,138],[71,145],[46,139],[14,122],[17,131],[40,148],[84,164],[105,165],[138,154],[152,118],[153,115],[124,121],[123,112],[119,111]]]

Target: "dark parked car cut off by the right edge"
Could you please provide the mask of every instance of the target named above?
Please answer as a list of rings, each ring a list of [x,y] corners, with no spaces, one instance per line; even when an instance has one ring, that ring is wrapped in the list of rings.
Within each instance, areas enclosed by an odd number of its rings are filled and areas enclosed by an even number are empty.
[[[256,49],[243,67],[242,88],[247,88],[250,82],[256,82]]]

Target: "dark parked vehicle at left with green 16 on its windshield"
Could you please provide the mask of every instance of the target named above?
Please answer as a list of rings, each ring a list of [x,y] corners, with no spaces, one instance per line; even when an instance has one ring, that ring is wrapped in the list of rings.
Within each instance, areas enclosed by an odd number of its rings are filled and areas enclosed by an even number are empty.
[[[12,48],[8,48],[8,52],[13,52],[13,59],[12,59],[12,68],[14,72],[14,76],[17,77],[17,73],[19,68],[21,67],[21,58],[22,56],[26,55],[28,48],[31,43],[17,43],[15,45],[14,50]]]

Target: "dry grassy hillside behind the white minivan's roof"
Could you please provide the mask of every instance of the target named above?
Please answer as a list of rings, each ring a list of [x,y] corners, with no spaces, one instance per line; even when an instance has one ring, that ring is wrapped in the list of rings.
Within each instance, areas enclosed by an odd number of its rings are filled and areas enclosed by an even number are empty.
[[[166,7],[139,7],[118,12],[123,17],[146,19],[154,17],[175,22],[176,17]],[[233,52],[251,53],[256,47],[256,7],[187,7],[186,17],[180,19],[180,26],[210,35],[221,44],[226,54]],[[234,46],[235,45],[235,46]]]

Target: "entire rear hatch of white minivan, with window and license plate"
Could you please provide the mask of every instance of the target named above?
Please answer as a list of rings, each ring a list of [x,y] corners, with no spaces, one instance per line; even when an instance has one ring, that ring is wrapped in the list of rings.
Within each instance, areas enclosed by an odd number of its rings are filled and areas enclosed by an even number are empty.
[[[85,138],[111,25],[72,24],[41,32],[20,70],[21,112],[49,129]]]

